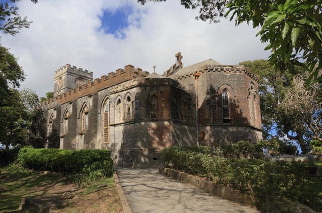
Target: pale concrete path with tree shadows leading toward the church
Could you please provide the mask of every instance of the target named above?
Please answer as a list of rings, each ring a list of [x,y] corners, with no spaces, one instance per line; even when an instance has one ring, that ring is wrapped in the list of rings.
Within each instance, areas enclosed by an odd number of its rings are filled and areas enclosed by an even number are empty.
[[[258,212],[161,175],[156,168],[116,171],[132,213]]]

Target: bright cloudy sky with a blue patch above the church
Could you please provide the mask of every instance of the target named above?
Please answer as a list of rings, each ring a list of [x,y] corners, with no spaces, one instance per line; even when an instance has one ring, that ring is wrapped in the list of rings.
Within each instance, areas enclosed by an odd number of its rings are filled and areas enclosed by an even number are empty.
[[[85,1],[39,0],[17,2],[19,14],[33,23],[20,34],[0,33],[1,44],[10,49],[23,67],[30,88],[39,96],[53,91],[54,71],[69,63],[99,78],[131,64],[162,74],[181,52],[183,66],[209,58],[234,65],[245,60],[267,59],[258,29],[235,26],[222,18],[209,24],[195,20],[198,10],[187,10],[179,0]]]

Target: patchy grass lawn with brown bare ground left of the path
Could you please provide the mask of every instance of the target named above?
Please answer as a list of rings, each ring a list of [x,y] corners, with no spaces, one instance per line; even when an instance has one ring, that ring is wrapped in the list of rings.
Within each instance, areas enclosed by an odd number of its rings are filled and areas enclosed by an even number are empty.
[[[98,188],[100,184],[106,187]],[[30,172],[16,167],[0,168],[0,212],[19,212],[21,198],[70,192],[68,204],[55,212],[122,212],[114,179],[103,178],[83,188],[66,178],[47,172]]]

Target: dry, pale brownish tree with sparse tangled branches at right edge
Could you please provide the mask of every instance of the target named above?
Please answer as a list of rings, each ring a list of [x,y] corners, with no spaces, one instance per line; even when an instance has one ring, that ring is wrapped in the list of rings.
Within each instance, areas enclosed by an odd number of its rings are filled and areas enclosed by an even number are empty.
[[[294,86],[283,99],[282,107],[296,118],[294,128],[306,129],[312,139],[322,142],[322,85],[305,86],[302,75],[294,77]]]

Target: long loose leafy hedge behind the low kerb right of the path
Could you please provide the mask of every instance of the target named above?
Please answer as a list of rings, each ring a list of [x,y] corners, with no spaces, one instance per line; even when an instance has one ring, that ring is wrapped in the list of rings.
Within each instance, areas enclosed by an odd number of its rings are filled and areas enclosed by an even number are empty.
[[[251,147],[244,142],[237,147],[246,147],[254,155],[259,151],[256,146]],[[322,210],[322,181],[319,177],[307,175],[305,163],[247,160],[244,157],[249,153],[243,150],[238,152],[239,148],[230,155],[226,153],[226,156],[231,156],[229,158],[214,155],[205,147],[169,147],[161,154],[166,166],[205,176],[214,183],[252,194],[257,207],[263,212],[274,210],[274,205],[267,203],[281,203],[283,199]]]

